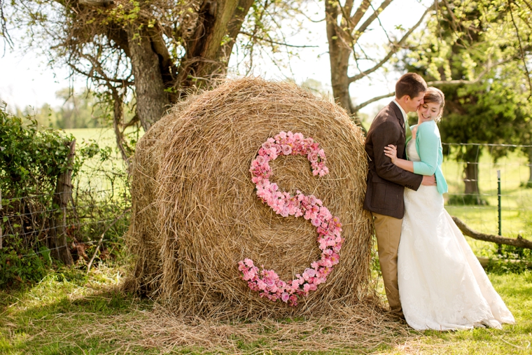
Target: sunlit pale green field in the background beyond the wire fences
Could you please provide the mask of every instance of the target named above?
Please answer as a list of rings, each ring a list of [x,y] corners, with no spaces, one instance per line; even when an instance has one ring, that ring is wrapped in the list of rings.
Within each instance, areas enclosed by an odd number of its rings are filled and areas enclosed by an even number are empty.
[[[94,139],[99,146],[116,146],[113,130],[110,128],[87,128],[78,130],[66,130],[76,137],[78,144],[84,139]],[[119,156],[115,153],[116,158]],[[505,237],[524,238],[532,237],[532,188],[524,188],[528,181],[528,160],[521,151],[508,151],[507,157],[500,158],[493,163],[489,149],[484,148],[484,153],[479,160],[479,188],[482,197],[487,205],[449,205],[446,202],[446,209],[451,216],[461,218],[470,228],[486,234],[498,234],[498,214],[497,214],[497,170],[500,169],[502,186],[502,231]],[[89,167],[98,166],[97,160],[89,162]],[[106,163],[100,169],[110,168]],[[444,158],[443,173],[449,184],[449,193],[445,195],[445,200],[449,196],[463,194],[463,163],[456,162],[452,157]],[[92,181],[94,183],[94,181]],[[105,190],[109,188],[109,182],[102,186]],[[478,256],[489,256],[496,249],[493,243],[482,242],[470,237],[466,237]]]

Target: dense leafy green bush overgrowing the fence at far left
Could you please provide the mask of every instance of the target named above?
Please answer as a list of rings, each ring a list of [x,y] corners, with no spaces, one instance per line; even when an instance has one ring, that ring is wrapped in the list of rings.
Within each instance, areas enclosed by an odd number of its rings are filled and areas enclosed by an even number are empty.
[[[59,174],[69,169],[69,142],[74,138],[57,130],[39,130],[36,120],[10,115],[4,107],[0,108],[0,127],[3,246],[0,249],[0,288],[3,288],[39,281],[52,266],[46,240],[57,228],[53,224],[59,208],[55,201],[56,183]],[[84,142],[78,148],[71,167],[76,183],[71,200],[73,206],[64,216],[64,222],[69,225],[66,228],[69,242],[85,242],[95,234],[99,236],[106,228],[101,221],[115,218],[120,214],[117,210],[125,209],[123,204],[117,207],[112,203],[116,198],[113,193],[124,188],[116,186],[111,189],[111,195],[106,195],[91,193],[90,189],[80,186],[84,179],[80,175],[86,174],[85,163],[96,159],[105,164],[111,158],[111,151],[110,147],[100,148],[95,141]],[[108,172],[107,177],[110,176],[120,176],[121,181],[125,179],[120,169]],[[127,204],[127,198],[120,198]],[[98,200],[101,204],[96,203]],[[94,218],[95,223],[83,223],[87,218]],[[122,233],[124,229],[124,223],[116,223],[116,228],[107,234],[114,235],[116,240],[116,232]]]

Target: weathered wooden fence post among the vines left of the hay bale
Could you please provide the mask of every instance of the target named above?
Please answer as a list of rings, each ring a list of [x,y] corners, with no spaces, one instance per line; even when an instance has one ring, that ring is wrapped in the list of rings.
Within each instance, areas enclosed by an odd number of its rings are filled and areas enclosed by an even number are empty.
[[[58,207],[58,211],[50,221],[52,228],[48,238],[48,247],[54,258],[61,260],[65,265],[72,265],[72,256],[66,243],[66,206],[72,194],[72,169],[73,158],[76,154],[76,139],[66,142],[66,145],[69,146],[70,152],[67,157],[66,170],[57,176],[52,204]]]

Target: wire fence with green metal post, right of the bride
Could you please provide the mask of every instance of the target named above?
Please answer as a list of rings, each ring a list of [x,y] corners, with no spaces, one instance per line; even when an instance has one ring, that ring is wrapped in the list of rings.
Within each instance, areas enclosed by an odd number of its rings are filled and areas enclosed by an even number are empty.
[[[443,148],[449,214],[478,232],[530,239],[532,145],[443,144]]]

